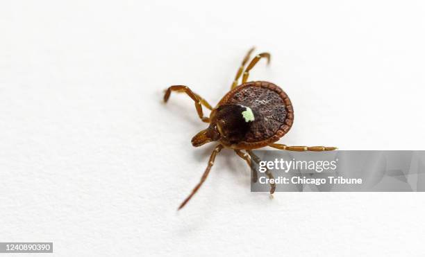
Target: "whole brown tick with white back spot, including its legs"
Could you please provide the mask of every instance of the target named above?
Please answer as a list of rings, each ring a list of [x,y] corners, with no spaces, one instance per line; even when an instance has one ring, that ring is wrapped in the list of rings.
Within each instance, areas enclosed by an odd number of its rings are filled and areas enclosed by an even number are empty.
[[[165,91],[164,101],[167,103],[172,91],[183,92],[194,100],[195,108],[199,118],[208,127],[192,138],[194,147],[205,143],[218,142],[208,161],[208,166],[203,172],[201,181],[192,190],[192,193],[181,203],[178,209],[182,209],[189,202],[192,196],[197,193],[203,182],[206,181],[215,157],[223,148],[231,148],[236,154],[244,159],[251,167],[251,159],[258,163],[260,159],[251,150],[270,146],[279,150],[290,151],[329,151],[335,150],[333,147],[324,146],[288,146],[276,143],[284,136],[294,122],[294,108],[290,98],[285,92],[267,81],[248,82],[249,71],[257,64],[261,58],[270,62],[269,53],[260,53],[251,58],[251,48],[245,55],[241,66],[236,73],[235,80],[231,85],[231,90],[213,108],[205,99],[201,98],[189,87],[183,85],[171,86]],[[242,84],[238,81],[242,76]],[[210,109],[210,116],[204,116],[203,107]],[[272,173],[266,172],[269,178],[273,178]],[[252,180],[257,180],[256,172],[253,172]],[[270,194],[274,193],[275,184],[271,184]]]

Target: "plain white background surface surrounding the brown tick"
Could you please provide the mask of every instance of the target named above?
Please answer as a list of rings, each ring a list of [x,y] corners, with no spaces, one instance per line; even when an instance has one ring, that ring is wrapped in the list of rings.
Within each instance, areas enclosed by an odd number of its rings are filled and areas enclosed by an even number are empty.
[[[424,1],[1,1],[0,240],[58,256],[421,256],[422,193],[251,193],[188,85],[226,93],[253,45],[288,145],[424,149]],[[17,255],[18,256],[18,255]]]

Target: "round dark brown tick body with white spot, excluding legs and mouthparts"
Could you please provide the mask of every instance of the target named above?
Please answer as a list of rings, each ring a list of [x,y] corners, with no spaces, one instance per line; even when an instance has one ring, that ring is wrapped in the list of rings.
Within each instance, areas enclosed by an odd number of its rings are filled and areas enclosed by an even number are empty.
[[[290,98],[280,87],[265,81],[235,87],[211,114],[211,121],[218,120],[215,126],[221,131],[220,143],[237,150],[262,148],[278,141],[294,121]]]

